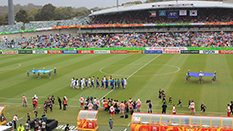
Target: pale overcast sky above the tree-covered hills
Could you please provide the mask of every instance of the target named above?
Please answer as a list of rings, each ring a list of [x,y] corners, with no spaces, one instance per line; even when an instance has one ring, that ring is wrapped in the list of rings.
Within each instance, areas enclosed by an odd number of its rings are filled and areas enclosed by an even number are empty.
[[[0,0],[1,6],[7,5],[8,0]],[[119,5],[126,2],[132,2],[137,0],[118,0]],[[145,2],[146,0],[139,0]],[[116,0],[13,0],[14,5],[27,5],[28,3],[33,3],[34,5],[45,5],[51,3],[57,7],[61,6],[71,6],[71,7],[112,7],[116,5]]]

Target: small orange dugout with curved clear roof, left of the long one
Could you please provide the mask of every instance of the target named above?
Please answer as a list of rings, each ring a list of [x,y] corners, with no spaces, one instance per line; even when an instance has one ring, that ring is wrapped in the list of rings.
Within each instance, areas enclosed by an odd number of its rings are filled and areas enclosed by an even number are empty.
[[[97,110],[80,110],[77,117],[77,130],[96,131],[98,126]]]

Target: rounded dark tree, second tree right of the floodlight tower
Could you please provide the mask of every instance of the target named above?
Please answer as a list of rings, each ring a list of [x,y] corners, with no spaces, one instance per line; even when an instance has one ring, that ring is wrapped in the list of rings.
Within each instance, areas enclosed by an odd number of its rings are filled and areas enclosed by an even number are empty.
[[[40,16],[42,20],[53,20],[54,19],[54,14],[55,14],[55,9],[56,7],[53,6],[52,4],[46,4],[42,7]]]

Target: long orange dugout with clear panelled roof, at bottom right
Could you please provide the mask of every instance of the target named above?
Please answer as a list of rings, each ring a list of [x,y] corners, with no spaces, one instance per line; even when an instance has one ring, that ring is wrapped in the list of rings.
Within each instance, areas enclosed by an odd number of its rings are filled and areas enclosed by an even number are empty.
[[[232,131],[232,117],[134,113],[131,131]]]

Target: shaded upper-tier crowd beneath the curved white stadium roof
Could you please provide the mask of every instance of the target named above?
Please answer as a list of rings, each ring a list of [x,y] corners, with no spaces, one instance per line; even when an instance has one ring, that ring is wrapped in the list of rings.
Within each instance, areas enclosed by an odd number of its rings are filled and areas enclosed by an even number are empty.
[[[232,10],[230,9],[198,9],[197,16],[186,16],[178,18],[167,18],[159,16],[157,10],[156,17],[150,17],[151,10],[130,11],[124,13],[106,14],[93,17],[91,24],[150,24],[150,23],[206,23],[206,22],[230,22],[232,21]]]

